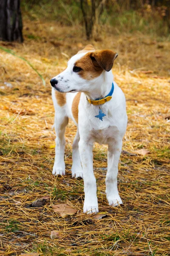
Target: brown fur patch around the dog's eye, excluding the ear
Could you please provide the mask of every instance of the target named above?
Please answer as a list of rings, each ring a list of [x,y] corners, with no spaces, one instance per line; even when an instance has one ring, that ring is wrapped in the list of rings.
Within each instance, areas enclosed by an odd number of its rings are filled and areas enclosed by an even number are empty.
[[[103,72],[102,67],[97,63],[94,59],[91,59],[91,53],[86,53],[82,58],[80,58],[74,64],[76,67],[81,67],[81,71],[79,71],[78,75],[81,76],[83,79],[92,80]]]

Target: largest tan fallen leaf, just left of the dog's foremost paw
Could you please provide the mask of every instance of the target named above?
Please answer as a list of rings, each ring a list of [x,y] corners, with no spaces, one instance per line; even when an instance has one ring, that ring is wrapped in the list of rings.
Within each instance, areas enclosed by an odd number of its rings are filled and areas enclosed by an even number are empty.
[[[63,218],[74,215],[77,210],[73,209],[68,204],[56,204],[53,205],[54,212],[58,212]]]

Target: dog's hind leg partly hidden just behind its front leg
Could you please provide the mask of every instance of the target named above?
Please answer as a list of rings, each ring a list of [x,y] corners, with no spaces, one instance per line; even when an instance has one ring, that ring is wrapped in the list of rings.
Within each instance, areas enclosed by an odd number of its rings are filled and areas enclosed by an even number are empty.
[[[79,130],[77,128],[77,133],[73,141],[73,154],[72,154],[72,160],[73,164],[71,167],[71,173],[72,177],[83,177],[82,174],[82,165],[81,165],[81,160],[80,160],[80,155],[79,155]]]

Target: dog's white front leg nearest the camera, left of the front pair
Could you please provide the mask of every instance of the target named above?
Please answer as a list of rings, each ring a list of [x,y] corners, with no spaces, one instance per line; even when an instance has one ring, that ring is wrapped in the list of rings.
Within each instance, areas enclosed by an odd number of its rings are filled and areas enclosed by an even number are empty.
[[[93,145],[80,138],[79,153],[82,162],[85,201],[83,212],[99,212],[96,195],[96,178],[93,172]]]

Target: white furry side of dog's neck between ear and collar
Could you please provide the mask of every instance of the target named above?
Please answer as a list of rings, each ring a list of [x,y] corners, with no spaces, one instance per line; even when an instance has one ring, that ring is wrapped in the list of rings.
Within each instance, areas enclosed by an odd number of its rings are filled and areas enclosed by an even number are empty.
[[[84,92],[88,99],[104,98],[111,91],[113,82],[113,74],[111,71],[104,71],[98,78],[91,84],[91,90]]]

